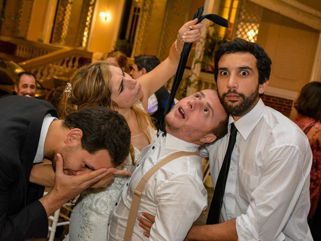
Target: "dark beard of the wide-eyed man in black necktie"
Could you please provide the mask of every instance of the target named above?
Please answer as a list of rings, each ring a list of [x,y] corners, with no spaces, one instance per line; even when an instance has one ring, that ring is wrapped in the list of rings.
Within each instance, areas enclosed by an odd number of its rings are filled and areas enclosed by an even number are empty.
[[[259,96],[258,92],[259,86],[257,86],[256,91],[252,92],[250,96],[246,97],[242,93],[238,93],[236,90],[229,90],[227,93],[224,93],[223,96],[219,95],[220,101],[225,109],[225,111],[228,114],[234,115],[234,116],[243,116],[246,113],[248,113],[253,106],[257,103],[257,99]],[[242,101],[239,104],[231,104],[230,102],[236,102],[236,101],[226,101],[225,96],[227,94],[235,93],[242,97]]]

